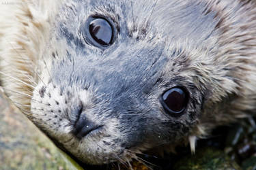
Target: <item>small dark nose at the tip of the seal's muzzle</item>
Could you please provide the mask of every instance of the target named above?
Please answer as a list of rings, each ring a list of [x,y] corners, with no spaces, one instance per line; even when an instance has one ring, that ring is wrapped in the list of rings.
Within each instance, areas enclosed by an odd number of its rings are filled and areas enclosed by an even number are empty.
[[[85,114],[80,113],[79,118],[76,120],[74,124],[74,129],[72,133],[79,139],[89,135],[91,132],[96,132],[103,125],[98,125],[95,122],[89,120]]]

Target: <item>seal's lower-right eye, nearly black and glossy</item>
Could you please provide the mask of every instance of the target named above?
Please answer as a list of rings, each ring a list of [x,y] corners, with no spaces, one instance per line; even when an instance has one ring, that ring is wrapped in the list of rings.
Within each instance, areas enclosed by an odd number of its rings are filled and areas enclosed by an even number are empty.
[[[162,94],[160,103],[165,112],[173,116],[179,116],[186,108],[188,96],[183,88],[175,87]]]

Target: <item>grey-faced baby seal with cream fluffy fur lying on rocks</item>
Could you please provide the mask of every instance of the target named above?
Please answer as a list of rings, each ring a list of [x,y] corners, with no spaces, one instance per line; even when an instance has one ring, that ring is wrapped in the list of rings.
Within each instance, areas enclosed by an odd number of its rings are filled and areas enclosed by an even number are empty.
[[[0,5],[1,86],[83,163],[169,152],[256,109],[249,0]]]

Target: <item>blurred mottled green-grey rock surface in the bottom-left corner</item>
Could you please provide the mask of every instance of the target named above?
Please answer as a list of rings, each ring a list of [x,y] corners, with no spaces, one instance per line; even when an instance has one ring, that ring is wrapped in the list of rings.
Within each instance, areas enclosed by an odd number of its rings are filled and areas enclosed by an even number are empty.
[[[0,169],[82,169],[0,92]]]

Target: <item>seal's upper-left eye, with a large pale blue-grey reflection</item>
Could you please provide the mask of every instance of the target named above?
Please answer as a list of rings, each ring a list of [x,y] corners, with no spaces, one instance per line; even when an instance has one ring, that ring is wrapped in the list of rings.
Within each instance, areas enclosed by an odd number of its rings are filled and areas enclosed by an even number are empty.
[[[89,33],[101,46],[109,46],[113,39],[113,27],[104,18],[91,18],[89,22]]]

